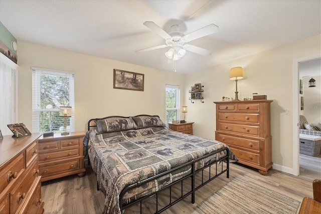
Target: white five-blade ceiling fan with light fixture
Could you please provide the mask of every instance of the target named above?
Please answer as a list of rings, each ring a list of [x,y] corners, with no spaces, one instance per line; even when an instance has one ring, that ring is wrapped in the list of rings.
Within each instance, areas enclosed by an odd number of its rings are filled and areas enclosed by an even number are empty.
[[[199,30],[196,30],[190,34],[184,35],[180,32],[179,25],[173,25],[171,27],[171,32],[167,33],[154,22],[144,22],[144,26],[154,31],[159,36],[163,37],[166,40],[166,45],[158,45],[150,48],[145,48],[141,50],[135,51],[136,53],[141,53],[145,51],[151,51],[159,48],[171,47],[168,52],[165,53],[166,57],[172,59],[174,61],[180,60],[186,53],[186,51],[191,51],[196,54],[200,54],[202,56],[211,55],[211,51],[206,50],[204,48],[200,48],[194,45],[185,44],[195,39],[199,39],[204,36],[208,36],[210,34],[214,34],[218,32],[219,27],[211,24]]]

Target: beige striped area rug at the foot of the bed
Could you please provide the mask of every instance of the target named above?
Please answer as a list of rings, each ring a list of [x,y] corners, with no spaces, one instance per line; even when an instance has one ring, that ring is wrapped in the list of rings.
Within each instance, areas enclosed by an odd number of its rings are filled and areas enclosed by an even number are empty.
[[[243,177],[235,177],[195,210],[208,213],[296,213],[300,202]]]

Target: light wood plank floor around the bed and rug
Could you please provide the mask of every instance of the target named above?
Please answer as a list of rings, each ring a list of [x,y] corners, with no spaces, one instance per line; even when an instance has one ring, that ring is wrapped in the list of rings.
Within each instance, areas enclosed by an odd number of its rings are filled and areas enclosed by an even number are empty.
[[[96,177],[90,166],[86,170],[86,175],[81,178],[77,175],[70,175],[42,182],[42,200],[45,202],[45,213],[102,213],[104,195],[101,191],[97,191]],[[194,207],[197,204],[211,196],[236,176],[255,180],[262,186],[302,201],[305,196],[313,197],[312,180],[321,178],[321,171],[300,166],[299,176],[273,169],[269,170],[266,176],[263,176],[255,169],[230,164],[230,178],[226,178],[226,174],[221,175],[197,190],[195,204],[191,203],[191,197],[188,196],[164,213],[195,212]]]

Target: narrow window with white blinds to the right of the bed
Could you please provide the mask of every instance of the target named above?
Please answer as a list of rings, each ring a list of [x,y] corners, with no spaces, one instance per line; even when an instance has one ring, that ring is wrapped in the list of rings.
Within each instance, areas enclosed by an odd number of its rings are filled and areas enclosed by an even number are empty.
[[[180,120],[180,86],[166,85],[166,125]]]

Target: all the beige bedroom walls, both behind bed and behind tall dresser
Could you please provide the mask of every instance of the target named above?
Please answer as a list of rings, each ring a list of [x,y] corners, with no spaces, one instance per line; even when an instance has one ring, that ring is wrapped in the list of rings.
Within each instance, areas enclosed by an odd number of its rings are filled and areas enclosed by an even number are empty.
[[[321,35],[259,54],[243,57],[191,74],[179,74],[117,62],[113,60],[19,42],[19,122],[32,127],[31,67],[65,70],[75,73],[76,131],[85,130],[90,118],[110,115],[159,115],[165,121],[165,84],[181,85],[181,105],[188,106],[186,121],[195,122],[194,134],[215,138],[215,104],[222,96],[235,96],[235,81],[229,70],[242,66],[244,78],[238,82],[242,94],[266,94],[271,103],[272,161],[279,170],[291,169],[293,159],[293,60],[320,53]],[[113,69],[145,74],[145,90],[113,89]],[[188,99],[195,83],[204,85],[204,103]],[[296,92],[297,93],[297,92]],[[289,171],[289,170],[285,170]]]

